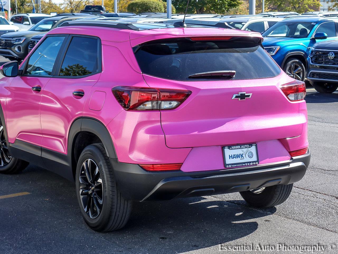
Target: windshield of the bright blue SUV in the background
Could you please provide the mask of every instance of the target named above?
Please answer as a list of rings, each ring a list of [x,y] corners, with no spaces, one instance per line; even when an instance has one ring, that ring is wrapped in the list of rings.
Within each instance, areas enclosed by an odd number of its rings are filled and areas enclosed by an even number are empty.
[[[268,28],[263,37],[290,37],[290,38],[306,38],[314,27],[313,22],[277,22]]]

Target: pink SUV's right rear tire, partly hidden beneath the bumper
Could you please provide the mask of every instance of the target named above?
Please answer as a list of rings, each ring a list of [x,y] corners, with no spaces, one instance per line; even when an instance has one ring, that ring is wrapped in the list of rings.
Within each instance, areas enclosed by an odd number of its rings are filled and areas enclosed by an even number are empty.
[[[293,184],[279,184],[262,189],[241,191],[244,200],[251,206],[268,208],[282,204],[288,199]]]

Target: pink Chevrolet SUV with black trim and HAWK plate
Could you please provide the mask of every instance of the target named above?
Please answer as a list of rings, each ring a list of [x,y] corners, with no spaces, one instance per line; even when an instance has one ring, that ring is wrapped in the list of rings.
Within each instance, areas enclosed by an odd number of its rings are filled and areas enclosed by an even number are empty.
[[[125,226],[132,201],[240,192],[283,203],[310,161],[303,82],[259,33],[112,21],[51,30],[0,80],[1,173],[75,181],[86,223]]]

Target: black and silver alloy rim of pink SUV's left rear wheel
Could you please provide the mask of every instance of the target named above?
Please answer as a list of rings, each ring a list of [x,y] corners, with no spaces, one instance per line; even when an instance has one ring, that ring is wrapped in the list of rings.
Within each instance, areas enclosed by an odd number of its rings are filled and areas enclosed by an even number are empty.
[[[102,211],[103,184],[100,170],[92,159],[83,162],[79,180],[82,207],[94,219]]]

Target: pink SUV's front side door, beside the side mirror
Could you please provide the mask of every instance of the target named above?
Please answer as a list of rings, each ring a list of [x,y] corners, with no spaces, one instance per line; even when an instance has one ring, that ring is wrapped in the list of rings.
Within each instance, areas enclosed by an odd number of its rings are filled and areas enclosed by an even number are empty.
[[[42,91],[52,77],[64,39],[65,36],[47,37],[23,64],[23,74],[11,83],[5,108],[9,143],[20,140],[41,146]]]

